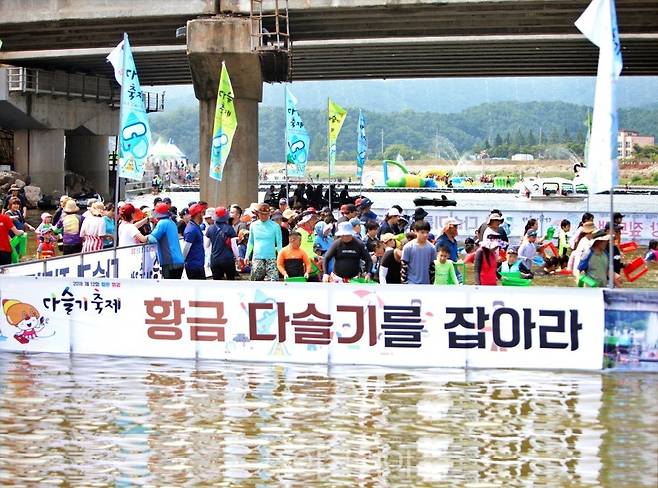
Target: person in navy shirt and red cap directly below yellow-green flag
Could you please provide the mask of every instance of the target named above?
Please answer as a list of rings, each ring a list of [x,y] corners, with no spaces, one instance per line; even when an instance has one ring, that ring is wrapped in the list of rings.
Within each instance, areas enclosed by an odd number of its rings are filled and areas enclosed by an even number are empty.
[[[228,223],[230,212],[225,207],[215,208],[215,223],[206,230],[210,241],[210,271],[213,280],[234,280],[236,277],[235,254],[231,241],[237,237]]]

